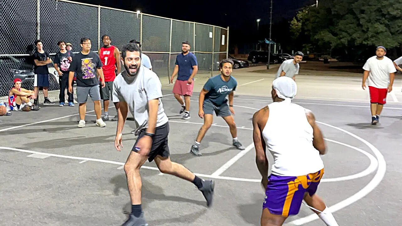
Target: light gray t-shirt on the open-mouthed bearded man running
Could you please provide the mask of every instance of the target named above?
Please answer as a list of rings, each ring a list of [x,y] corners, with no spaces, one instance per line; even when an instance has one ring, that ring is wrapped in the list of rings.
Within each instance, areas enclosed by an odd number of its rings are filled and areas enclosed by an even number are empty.
[[[118,74],[113,82],[113,102],[126,102],[135,124],[138,126],[144,122],[148,127],[148,101],[159,99],[156,127],[168,122],[162,105],[162,84],[155,72],[146,67],[140,67],[137,76],[127,76],[127,72]]]

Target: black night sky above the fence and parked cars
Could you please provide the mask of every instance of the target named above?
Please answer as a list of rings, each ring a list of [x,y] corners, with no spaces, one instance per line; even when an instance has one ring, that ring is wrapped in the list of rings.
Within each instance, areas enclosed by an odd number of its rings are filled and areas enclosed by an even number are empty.
[[[270,0],[235,1],[201,0],[187,1],[179,7],[166,0],[76,0],[113,8],[164,16],[183,21],[194,21],[220,27],[230,27],[230,43],[250,43],[269,38]],[[316,0],[273,0],[273,23],[290,20],[297,10],[315,4]],[[256,19],[260,18],[259,33]],[[281,32],[281,31],[273,31]],[[275,35],[273,35],[274,37]],[[277,40],[276,40],[277,41]]]

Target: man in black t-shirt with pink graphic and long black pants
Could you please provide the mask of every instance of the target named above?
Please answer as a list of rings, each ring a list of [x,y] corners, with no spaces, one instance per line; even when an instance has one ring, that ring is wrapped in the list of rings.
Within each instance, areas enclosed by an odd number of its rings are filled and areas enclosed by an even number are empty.
[[[64,106],[64,90],[68,89],[68,74],[70,69],[70,64],[72,62],[72,58],[74,53],[72,51],[66,49],[66,43],[64,41],[59,41],[57,45],[60,48],[60,51],[56,53],[54,58],[54,68],[59,74],[59,85],[60,85],[60,94],[59,94],[59,106]],[[74,91],[73,91],[74,92]],[[74,107],[74,93],[68,92],[68,106]]]

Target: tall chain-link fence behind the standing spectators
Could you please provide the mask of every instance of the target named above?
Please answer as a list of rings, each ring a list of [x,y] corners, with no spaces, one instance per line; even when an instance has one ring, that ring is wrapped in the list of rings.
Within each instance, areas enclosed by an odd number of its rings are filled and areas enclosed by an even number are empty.
[[[52,60],[59,51],[58,41],[72,43],[72,51],[77,53],[81,50],[82,37],[92,40],[92,51],[103,46],[103,35],[109,35],[111,45],[119,49],[136,39],[149,56],[152,70],[166,81],[173,72],[183,41],[189,41],[190,51],[197,57],[198,74],[212,76],[218,70],[218,62],[228,57],[229,28],[69,0],[2,0],[0,9],[3,12],[0,14],[3,21],[0,24],[1,101],[7,100],[14,78],[21,78],[23,87],[33,90],[32,54],[36,39],[43,41],[43,49],[50,53]],[[48,96],[58,102],[59,77],[53,64],[48,67]],[[42,91],[39,91],[39,103],[43,103]]]

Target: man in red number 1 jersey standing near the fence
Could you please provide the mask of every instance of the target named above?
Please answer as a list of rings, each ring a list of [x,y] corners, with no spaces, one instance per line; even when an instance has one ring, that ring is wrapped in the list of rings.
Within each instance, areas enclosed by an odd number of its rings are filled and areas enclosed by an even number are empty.
[[[102,62],[103,75],[105,76],[105,87],[100,88],[100,98],[103,100],[103,121],[109,120],[109,97],[112,98],[113,81],[117,74],[120,74],[120,51],[117,47],[110,45],[109,35],[102,36],[103,47],[98,50],[100,61]],[[116,74],[117,72],[117,74]],[[117,108],[116,108],[117,109]],[[111,121],[117,121],[117,113]]]

